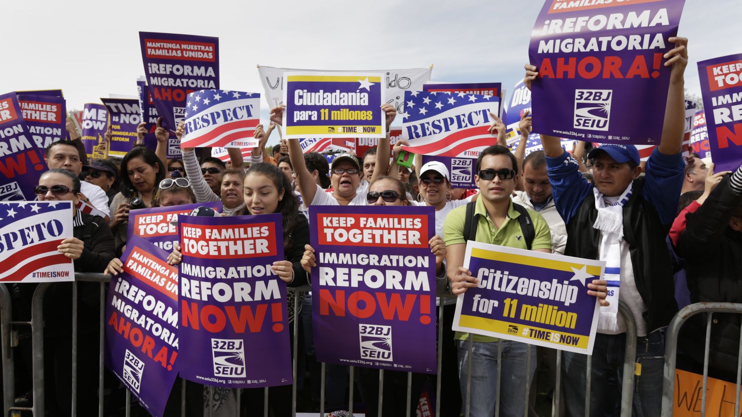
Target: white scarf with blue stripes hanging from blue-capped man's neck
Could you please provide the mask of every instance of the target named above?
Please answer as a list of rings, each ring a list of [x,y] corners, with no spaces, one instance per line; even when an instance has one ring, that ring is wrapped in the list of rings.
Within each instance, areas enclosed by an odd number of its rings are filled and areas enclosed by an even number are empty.
[[[613,204],[606,205],[603,194],[593,187],[595,208],[598,216],[593,228],[600,230],[600,247],[598,259],[605,261],[603,278],[608,281],[608,307],[600,307],[598,330],[618,330],[618,292],[621,279],[621,241],[623,241],[623,206],[631,197],[634,183],[628,184],[626,190]]]

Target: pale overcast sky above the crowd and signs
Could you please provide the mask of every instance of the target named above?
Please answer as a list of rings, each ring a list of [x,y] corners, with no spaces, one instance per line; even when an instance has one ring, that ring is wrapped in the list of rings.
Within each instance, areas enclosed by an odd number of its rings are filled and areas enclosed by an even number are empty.
[[[5,1],[0,93],[62,88],[68,108],[136,95],[139,30],[218,36],[220,84],[263,93],[257,64],[332,70],[427,67],[433,80],[522,79],[543,0]],[[742,53],[742,0],[686,0],[689,93],[697,61]],[[266,106],[266,103],[262,103]],[[263,109],[267,118],[267,109]],[[272,138],[272,141],[275,141]]]

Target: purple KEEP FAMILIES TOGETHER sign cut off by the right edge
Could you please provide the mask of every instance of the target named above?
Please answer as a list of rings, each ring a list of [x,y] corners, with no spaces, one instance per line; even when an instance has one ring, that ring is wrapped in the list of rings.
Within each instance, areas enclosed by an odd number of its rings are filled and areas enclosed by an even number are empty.
[[[703,110],[714,170],[736,170],[742,164],[742,54],[698,63]]]

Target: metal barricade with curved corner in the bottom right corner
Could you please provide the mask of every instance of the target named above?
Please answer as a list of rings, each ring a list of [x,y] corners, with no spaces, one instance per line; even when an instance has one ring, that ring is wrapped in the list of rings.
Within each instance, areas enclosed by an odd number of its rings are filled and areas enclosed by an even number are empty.
[[[677,361],[677,336],[680,335],[680,327],[692,316],[706,313],[706,344],[703,349],[703,385],[701,389],[701,417],[706,416],[706,387],[709,378],[709,350],[711,341],[711,324],[714,313],[736,313],[742,314],[742,304],[705,302],[690,304],[683,307],[670,321],[665,333],[665,370],[663,374],[664,384],[662,390],[662,416],[672,417],[673,398],[675,387],[675,365]],[[737,355],[737,390],[735,396],[735,413],[740,415],[740,387],[742,386],[742,332],[740,333],[740,345]]]

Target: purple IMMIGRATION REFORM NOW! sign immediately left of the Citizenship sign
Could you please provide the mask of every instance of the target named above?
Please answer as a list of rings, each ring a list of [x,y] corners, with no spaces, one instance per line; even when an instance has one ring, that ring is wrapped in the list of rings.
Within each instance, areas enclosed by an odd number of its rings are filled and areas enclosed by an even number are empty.
[[[436,373],[433,207],[309,206],[309,219],[317,360]]]

